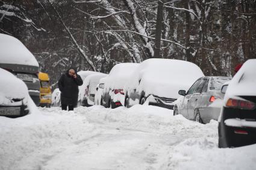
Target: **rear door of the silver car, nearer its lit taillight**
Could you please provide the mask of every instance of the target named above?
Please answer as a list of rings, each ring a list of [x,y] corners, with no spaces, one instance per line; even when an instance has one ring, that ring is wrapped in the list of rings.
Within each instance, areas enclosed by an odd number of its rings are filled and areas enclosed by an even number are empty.
[[[187,104],[187,117],[190,120],[194,120],[195,115],[194,111],[195,108],[199,105],[200,103],[200,98],[202,96],[202,90],[204,89],[205,84],[207,83],[208,78],[204,77],[200,80],[198,86],[196,87],[195,91],[193,91],[192,96],[190,97],[190,100],[188,101]]]

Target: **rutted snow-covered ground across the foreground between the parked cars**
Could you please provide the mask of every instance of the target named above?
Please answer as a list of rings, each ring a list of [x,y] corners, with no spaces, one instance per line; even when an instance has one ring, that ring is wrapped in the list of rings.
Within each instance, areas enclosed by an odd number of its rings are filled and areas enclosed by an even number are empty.
[[[0,117],[0,169],[255,169],[256,145],[219,149],[217,121],[172,115],[135,105]]]

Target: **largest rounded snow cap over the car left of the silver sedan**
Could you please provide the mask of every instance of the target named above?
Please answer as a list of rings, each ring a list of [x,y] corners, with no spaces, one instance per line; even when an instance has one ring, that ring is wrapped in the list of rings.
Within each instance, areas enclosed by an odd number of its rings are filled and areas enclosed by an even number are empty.
[[[192,62],[177,59],[146,59],[133,72],[125,85],[128,94],[136,89],[139,94],[154,94],[160,97],[178,99],[179,90],[189,90],[199,77],[204,76],[202,70]]]

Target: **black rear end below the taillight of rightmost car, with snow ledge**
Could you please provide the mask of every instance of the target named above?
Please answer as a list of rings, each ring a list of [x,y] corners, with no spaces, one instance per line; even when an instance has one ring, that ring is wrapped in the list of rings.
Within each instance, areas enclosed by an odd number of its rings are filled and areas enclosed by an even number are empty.
[[[218,127],[219,147],[256,144],[255,119],[255,111],[223,107]]]

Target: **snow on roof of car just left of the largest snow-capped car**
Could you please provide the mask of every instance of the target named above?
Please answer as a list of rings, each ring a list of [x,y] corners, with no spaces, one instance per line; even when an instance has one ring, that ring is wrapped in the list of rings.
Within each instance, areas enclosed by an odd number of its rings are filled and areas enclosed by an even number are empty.
[[[114,65],[105,80],[105,88],[122,89],[138,66],[139,64],[131,62]]]

